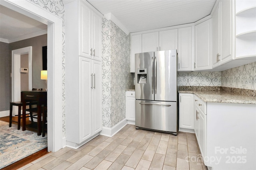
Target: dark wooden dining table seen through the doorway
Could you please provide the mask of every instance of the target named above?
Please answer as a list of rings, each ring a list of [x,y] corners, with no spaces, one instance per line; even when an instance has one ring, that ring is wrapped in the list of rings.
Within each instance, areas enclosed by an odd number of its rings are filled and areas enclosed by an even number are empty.
[[[40,136],[42,133],[41,127],[41,116],[42,106],[47,107],[47,92],[46,91],[21,91],[21,102],[22,102],[22,131],[26,130],[26,102],[37,102],[37,135]]]

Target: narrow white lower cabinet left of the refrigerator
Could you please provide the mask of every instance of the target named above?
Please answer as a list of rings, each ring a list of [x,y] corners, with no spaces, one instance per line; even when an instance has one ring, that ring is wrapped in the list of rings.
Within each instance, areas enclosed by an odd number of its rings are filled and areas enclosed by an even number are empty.
[[[135,91],[126,91],[126,120],[135,125]]]

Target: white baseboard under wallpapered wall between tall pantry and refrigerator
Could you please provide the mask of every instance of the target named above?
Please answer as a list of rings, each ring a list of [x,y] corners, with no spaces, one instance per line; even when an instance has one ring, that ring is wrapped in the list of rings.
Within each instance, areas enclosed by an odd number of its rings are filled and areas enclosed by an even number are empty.
[[[127,125],[127,120],[123,119],[113,127],[102,127],[102,131],[100,132],[100,135],[112,137],[116,133],[118,133],[125,125]]]

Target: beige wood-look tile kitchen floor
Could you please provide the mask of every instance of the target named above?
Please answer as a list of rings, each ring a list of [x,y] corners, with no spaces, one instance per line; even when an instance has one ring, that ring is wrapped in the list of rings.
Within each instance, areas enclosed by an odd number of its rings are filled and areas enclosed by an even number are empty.
[[[113,137],[99,135],[78,149],[65,147],[20,170],[207,170],[193,133],[177,136],[126,125]]]

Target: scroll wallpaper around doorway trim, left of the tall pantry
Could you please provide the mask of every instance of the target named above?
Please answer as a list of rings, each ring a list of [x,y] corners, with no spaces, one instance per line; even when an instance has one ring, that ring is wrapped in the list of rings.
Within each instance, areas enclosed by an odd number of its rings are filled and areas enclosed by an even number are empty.
[[[44,10],[62,18],[62,133],[66,136],[65,129],[65,25],[63,0],[29,0]]]

